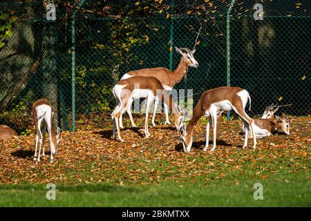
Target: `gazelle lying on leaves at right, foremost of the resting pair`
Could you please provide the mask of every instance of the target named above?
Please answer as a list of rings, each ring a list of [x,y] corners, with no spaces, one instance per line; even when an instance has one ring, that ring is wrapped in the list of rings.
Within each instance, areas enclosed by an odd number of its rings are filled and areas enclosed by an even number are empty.
[[[273,119],[254,119],[253,129],[255,131],[256,138],[263,138],[275,133],[285,133],[290,135],[290,119],[282,113],[281,117],[276,116],[277,122]],[[245,128],[242,127],[245,133]]]

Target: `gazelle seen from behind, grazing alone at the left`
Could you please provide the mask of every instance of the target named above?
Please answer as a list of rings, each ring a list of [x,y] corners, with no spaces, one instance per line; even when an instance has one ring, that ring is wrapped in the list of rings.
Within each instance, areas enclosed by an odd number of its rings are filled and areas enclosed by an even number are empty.
[[[57,146],[61,142],[60,128],[57,127],[57,133],[55,133],[53,128],[53,108],[47,99],[38,99],[34,104],[32,104],[31,113],[36,127],[36,150],[35,157],[33,160],[40,162],[41,145],[43,142],[43,152],[44,157],[44,138],[46,135],[46,128],[48,129],[48,137],[50,140],[50,162],[53,162],[53,155],[57,153]],[[41,133],[41,122],[44,120],[44,130]],[[37,146],[39,142],[39,154],[37,157]]]

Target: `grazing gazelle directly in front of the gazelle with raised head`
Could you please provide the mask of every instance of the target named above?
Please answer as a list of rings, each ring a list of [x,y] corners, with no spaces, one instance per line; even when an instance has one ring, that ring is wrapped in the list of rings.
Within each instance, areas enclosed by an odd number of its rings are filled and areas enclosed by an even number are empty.
[[[185,115],[185,113],[181,113],[180,108],[174,104],[173,99],[165,92],[164,87],[156,77],[130,77],[119,81],[113,87],[113,95],[118,102],[115,111],[111,114],[113,120],[113,138],[116,138],[116,126],[117,136],[121,142],[123,142],[123,140],[120,135],[120,116],[126,108],[129,108],[133,99],[147,98],[146,122],[144,124],[144,133],[146,137],[150,136],[148,131],[149,108],[154,99],[156,99],[155,108],[158,106],[159,100],[164,101],[164,103],[171,108],[177,129],[180,128],[182,115]]]

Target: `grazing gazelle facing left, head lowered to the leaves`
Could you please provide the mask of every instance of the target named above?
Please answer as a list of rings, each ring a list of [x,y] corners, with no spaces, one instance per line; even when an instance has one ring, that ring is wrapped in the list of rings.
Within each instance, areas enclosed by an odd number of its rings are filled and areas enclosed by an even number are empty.
[[[210,116],[211,118],[207,124],[206,145],[203,150],[207,151],[207,147],[209,146],[209,127],[213,124],[214,139],[211,151],[214,151],[216,148],[217,111],[231,111],[232,109],[242,118],[245,128],[247,128],[245,130],[245,140],[243,145],[243,148],[245,148],[247,146],[248,132],[249,130],[253,131],[252,127],[254,126],[254,121],[244,111],[248,99],[250,109],[251,99],[247,90],[244,90],[243,88],[220,87],[206,90],[202,93],[200,99],[198,100],[198,104],[196,104],[196,108],[194,108],[194,113],[189,124],[186,125],[185,121],[180,124],[180,138],[182,140],[184,151],[190,151],[192,146],[192,136],[194,134],[194,126],[203,115]],[[256,148],[256,137],[254,132],[252,133],[253,148]]]

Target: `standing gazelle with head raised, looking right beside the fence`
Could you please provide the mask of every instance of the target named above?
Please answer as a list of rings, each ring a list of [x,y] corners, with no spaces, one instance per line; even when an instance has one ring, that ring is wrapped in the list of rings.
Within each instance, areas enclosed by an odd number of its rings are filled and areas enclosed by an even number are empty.
[[[128,79],[129,77],[133,76],[156,77],[157,79],[160,80],[165,90],[172,90],[173,87],[182,80],[182,77],[185,76],[189,66],[198,68],[198,61],[194,59],[194,52],[196,52],[196,50],[189,50],[189,48],[176,47],[176,51],[180,53],[180,55],[182,55],[176,70],[171,71],[167,68],[144,68],[140,70],[133,70],[124,74],[121,80]],[[133,100],[131,100],[131,104],[132,102]],[[135,123],[131,114],[131,106],[132,106],[131,104],[129,104],[128,108],[126,108],[126,112],[129,114],[132,126],[135,127]],[[156,112],[156,108],[154,108],[154,112]],[[166,117],[164,124],[171,124],[171,122],[169,122],[169,109],[167,104],[164,104],[164,112]],[[123,128],[122,114],[120,116],[121,128]],[[153,115],[151,120],[153,126],[156,126],[156,124],[154,123],[155,117],[156,115]]]

